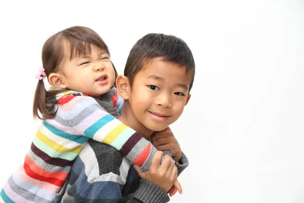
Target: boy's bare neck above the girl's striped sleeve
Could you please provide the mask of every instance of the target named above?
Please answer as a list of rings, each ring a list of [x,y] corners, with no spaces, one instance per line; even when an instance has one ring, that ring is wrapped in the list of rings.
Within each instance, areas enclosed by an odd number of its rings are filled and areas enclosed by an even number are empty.
[[[146,128],[143,126],[133,115],[130,104],[128,100],[125,100],[125,107],[118,118],[121,122],[123,122],[125,125],[131,127],[136,132],[138,132],[143,138],[149,139],[151,137],[151,134],[153,133],[152,130]]]

